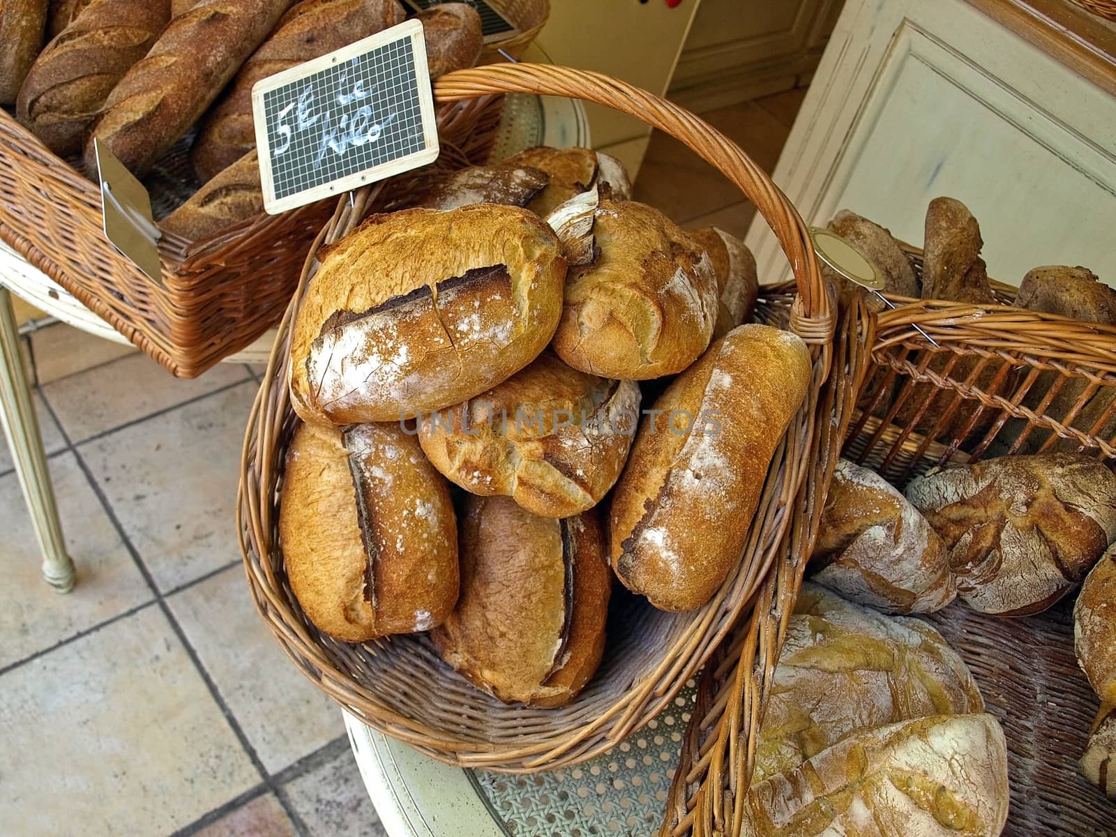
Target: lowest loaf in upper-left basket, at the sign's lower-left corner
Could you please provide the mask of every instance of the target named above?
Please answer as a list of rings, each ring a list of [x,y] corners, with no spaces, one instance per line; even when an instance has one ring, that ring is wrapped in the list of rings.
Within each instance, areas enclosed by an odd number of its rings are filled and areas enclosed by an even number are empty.
[[[263,213],[260,161],[256,150],[219,173],[160,222],[160,227],[201,241],[227,227]]]

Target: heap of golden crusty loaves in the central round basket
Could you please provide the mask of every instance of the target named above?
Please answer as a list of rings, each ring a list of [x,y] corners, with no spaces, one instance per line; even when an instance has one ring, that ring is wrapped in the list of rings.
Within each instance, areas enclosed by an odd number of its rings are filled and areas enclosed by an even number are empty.
[[[739,564],[810,355],[749,323],[742,242],[631,189],[531,148],[319,252],[279,532],[320,631],[430,631],[478,687],[555,706],[602,660],[614,579],[692,610]]]

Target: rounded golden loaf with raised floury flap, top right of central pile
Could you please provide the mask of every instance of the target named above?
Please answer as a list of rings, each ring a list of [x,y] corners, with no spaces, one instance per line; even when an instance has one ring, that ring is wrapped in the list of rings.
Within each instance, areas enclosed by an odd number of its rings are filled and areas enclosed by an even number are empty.
[[[575,369],[642,381],[673,375],[709,346],[716,276],[666,215],[594,189],[547,218],[569,262],[554,348]]]

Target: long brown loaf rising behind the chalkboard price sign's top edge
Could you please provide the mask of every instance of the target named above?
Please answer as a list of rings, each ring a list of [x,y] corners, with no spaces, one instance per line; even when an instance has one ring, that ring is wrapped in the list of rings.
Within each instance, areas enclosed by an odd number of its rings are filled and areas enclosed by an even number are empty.
[[[291,7],[202,122],[190,152],[199,180],[211,180],[256,147],[252,86],[257,81],[403,19],[396,0],[302,0]]]

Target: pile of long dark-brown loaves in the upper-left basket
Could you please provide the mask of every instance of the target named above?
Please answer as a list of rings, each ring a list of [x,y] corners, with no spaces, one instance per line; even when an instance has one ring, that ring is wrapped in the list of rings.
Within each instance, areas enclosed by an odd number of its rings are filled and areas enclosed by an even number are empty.
[[[405,17],[396,0],[0,0],[0,105],[93,179],[94,137],[143,177],[196,127],[202,185],[161,223],[198,241],[263,212],[252,85]],[[431,78],[480,59],[471,6],[416,17]]]

